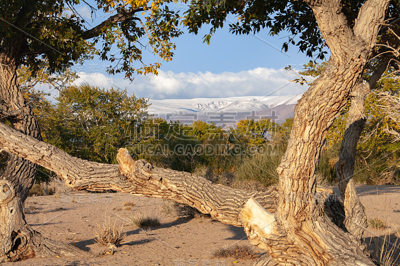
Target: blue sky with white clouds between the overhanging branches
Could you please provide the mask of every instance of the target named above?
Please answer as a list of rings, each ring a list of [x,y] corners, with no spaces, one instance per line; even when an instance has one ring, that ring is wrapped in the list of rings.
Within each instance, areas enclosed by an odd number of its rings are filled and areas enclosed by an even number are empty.
[[[78,11],[89,18],[88,8]],[[197,35],[185,33],[176,38],[173,59],[162,62],[158,76],[135,76],[130,82],[123,79],[123,74],[108,75],[105,66],[109,63],[94,59],[75,67],[80,76],[76,83],[126,88],[136,96],[153,99],[294,95],[307,89],[289,82],[297,76],[284,70],[287,65],[300,69],[310,60],[295,46],[281,51],[286,34],[269,36],[265,30],[255,35],[234,35],[224,27],[217,30],[207,45],[202,42],[205,33],[206,27]],[[151,57],[145,55],[147,61]]]

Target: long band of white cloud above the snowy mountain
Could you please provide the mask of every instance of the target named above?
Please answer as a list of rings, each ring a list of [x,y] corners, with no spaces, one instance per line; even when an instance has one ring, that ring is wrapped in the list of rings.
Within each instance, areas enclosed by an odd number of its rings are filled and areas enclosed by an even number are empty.
[[[257,67],[240,72],[181,72],[158,71],[158,75],[139,76],[130,82],[102,73],[79,73],[75,82],[87,82],[99,87],[120,87],[139,97],[152,99],[190,99],[231,96],[294,95],[303,93],[307,86],[289,80],[297,78],[293,72]]]

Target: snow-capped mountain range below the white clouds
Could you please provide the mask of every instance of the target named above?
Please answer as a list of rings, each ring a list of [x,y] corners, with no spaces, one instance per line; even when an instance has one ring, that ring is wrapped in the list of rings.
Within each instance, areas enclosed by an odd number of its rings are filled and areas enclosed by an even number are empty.
[[[192,120],[235,123],[246,117],[267,117],[283,122],[293,116],[301,94],[287,96],[240,96],[228,98],[150,99],[148,113],[167,120],[190,123]],[[215,118],[217,115],[217,119]],[[214,118],[215,121],[212,120]]]

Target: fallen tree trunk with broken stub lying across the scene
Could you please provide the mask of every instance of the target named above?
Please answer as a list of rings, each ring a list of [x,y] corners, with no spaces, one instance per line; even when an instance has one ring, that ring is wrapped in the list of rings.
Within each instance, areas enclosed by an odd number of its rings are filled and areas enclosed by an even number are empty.
[[[253,197],[263,208],[275,212],[277,189],[245,191],[232,189],[186,172],[153,167],[134,161],[126,149],[117,154],[119,165],[100,164],[72,157],[60,149],[24,135],[0,123],[0,147],[8,153],[41,165],[77,190],[115,190],[133,195],[163,198],[187,204],[224,224],[241,226],[239,213]],[[320,208],[342,227],[343,209],[333,192],[318,189]]]

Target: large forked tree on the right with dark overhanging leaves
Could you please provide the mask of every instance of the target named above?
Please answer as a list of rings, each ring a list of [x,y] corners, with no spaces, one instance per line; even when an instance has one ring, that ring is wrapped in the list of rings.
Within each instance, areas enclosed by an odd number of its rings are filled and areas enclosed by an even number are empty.
[[[268,251],[272,259],[266,259],[266,265],[274,265],[273,261],[300,265],[372,265],[356,240],[358,234],[355,233],[354,238],[338,231],[330,221],[323,219],[316,208],[313,196],[315,170],[327,130],[335,117],[350,96],[363,101],[365,93],[374,86],[388,63],[373,68],[370,79],[363,84],[362,74],[369,62],[382,52],[392,51],[391,47],[397,47],[382,44],[377,49],[373,48],[382,39],[390,44],[396,42],[389,39],[390,34],[395,35],[391,33],[395,25],[382,27],[382,24],[386,19],[390,23],[396,17],[397,4],[389,0],[269,1],[268,4],[263,1],[227,1],[223,7],[218,7],[192,2],[186,12],[185,25],[196,33],[203,23],[211,24],[210,33],[205,36],[208,42],[215,29],[224,24],[226,15],[233,13],[237,22],[229,26],[234,33],[258,32],[264,27],[270,28],[271,34],[287,30],[292,34],[288,41],[298,45],[308,55],[317,51],[317,55],[323,57],[322,43],[331,52],[325,69],[296,105],[287,150],[277,169],[279,205],[274,222],[268,230],[259,230],[251,223],[245,225],[247,236],[254,245]],[[378,34],[384,38],[377,39]],[[297,43],[296,35],[300,39]],[[287,48],[287,43],[283,48]],[[390,52],[392,57],[396,54],[395,49]],[[351,146],[343,145],[343,155],[345,150],[353,149],[354,143],[356,145],[359,134],[352,128],[357,126],[353,122],[358,120],[354,116],[354,120],[349,121],[347,132],[354,137],[351,138]],[[350,151],[349,154],[354,153]],[[345,180],[348,174],[352,175],[353,160],[349,158],[348,161],[350,167],[342,168],[344,174],[341,176]],[[347,202],[347,199],[354,200],[354,195],[349,193],[355,191],[351,180],[341,184],[346,196],[345,208],[355,206],[356,202]],[[347,188],[349,191],[345,191]],[[353,218],[352,221],[360,220]],[[343,250],[337,251],[335,247]]]

